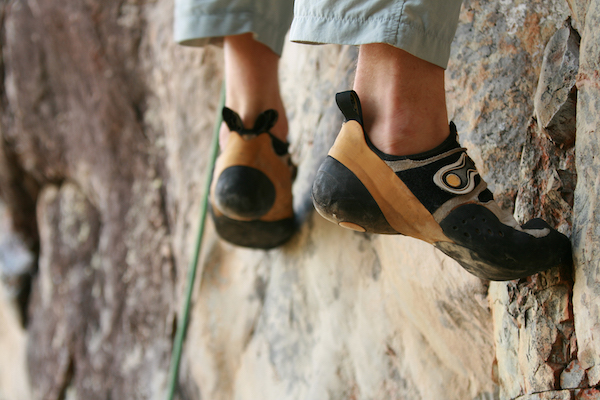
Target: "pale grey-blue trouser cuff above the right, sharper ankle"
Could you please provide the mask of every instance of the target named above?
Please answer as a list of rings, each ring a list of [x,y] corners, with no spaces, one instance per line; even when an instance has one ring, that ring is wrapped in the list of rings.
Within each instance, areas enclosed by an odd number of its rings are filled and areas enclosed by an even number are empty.
[[[370,7],[369,1],[363,2],[360,13],[353,13],[337,0],[323,0],[319,8],[311,0],[297,0],[290,40],[312,44],[387,43],[447,67],[462,0],[403,0],[383,7],[377,0],[370,2],[377,4]]]

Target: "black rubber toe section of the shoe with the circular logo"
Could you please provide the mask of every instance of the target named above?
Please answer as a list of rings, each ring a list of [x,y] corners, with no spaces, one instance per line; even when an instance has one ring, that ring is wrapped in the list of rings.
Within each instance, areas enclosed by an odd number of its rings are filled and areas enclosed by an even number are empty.
[[[569,239],[541,219],[523,225],[524,229],[549,229],[538,238],[504,225],[482,205],[465,204],[440,226],[455,243],[435,246],[482,279],[519,279],[573,262]]]

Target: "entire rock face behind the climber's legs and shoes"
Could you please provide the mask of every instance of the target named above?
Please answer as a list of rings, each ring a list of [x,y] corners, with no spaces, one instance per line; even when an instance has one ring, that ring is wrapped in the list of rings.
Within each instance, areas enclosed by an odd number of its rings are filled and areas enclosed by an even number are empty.
[[[170,0],[2,13],[0,196],[33,267],[11,281],[27,295],[0,299],[0,398],[162,399],[221,50],[175,45]],[[574,271],[492,284],[313,212],[357,50],[288,43],[300,230],[267,252],[208,224],[178,398],[600,399],[599,18],[598,0],[464,2],[446,81],[460,141],[503,207],[574,242]]]

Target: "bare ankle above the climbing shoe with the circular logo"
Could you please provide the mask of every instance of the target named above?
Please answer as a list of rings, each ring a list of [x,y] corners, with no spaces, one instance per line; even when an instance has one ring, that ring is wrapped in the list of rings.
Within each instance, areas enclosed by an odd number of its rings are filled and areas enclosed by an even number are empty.
[[[383,44],[361,46],[354,90],[373,144],[392,155],[431,150],[449,135],[444,70]]]

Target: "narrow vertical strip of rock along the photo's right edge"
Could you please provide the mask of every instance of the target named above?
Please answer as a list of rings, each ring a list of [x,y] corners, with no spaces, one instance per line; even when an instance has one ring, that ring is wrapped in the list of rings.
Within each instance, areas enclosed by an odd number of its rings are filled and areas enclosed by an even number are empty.
[[[600,294],[598,251],[598,151],[600,145],[600,2],[591,1],[581,35],[581,59],[577,78],[577,188],[573,219],[575,245],[575,287],[573,310],[577,331],[578,356],[588,371],[591,385],[600,383]]]

